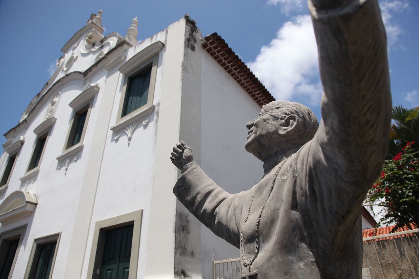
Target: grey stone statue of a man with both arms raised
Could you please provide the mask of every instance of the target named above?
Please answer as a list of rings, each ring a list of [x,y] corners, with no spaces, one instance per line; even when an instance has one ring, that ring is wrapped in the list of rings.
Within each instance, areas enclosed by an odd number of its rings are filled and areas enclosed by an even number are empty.
[[[385,158],[391,116],[387,45],[377,0],[309,0],[323,96],[320,125],[299,103],[274,101],[247,123],[264,162],[250,190],[229,194],[183,141],[173,192],[240,248],[242,278],[361,278],[361,205]]]

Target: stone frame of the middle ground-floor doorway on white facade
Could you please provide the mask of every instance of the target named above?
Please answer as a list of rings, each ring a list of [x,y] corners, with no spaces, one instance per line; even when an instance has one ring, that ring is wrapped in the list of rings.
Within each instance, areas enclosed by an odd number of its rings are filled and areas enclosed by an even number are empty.
[[[60,239],[61,239],[61,232],[34,239],[34,243],[32,244],[31,254],[29,256],[28,265],[26,266],[25,276],[23,277],[24,279],[30,279],[30,278],[32,279],[34,277],[35,275],[34,265],[38,260],[37,256],[39,256],[39,252],[40,252],[39,249],[41,248],[41,246],[44,244],[56,242],[57,244],[55,245],[54,257],[52,258],[51,271],[49,271],[49,276],[48,276],[48,279],[52,278],[52,273],[54,272],[55,259],[57,258],[57,252],[58,252]]]

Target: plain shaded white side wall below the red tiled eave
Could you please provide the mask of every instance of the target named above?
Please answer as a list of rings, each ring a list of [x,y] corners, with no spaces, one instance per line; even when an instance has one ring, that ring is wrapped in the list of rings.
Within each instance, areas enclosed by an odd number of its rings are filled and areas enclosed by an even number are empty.
[[[230,193],[250,189],[263,175],[262,162],[244,148],[246,123],[259,105],[215,61],[202,51],[201,167]],[[237,258],[239,249],[202,225],[202,276],[212,278],[212,261]]]

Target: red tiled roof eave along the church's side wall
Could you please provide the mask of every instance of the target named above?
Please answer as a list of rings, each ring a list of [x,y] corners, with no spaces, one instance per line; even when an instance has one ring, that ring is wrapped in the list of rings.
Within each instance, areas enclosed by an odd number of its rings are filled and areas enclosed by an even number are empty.
[[[201,43],[202,48],[246,90],[258,105],[266,105],[275,100],[246,64],[228,47],[228,44],[221,36],[217,33],[212,33],[202,38]]]

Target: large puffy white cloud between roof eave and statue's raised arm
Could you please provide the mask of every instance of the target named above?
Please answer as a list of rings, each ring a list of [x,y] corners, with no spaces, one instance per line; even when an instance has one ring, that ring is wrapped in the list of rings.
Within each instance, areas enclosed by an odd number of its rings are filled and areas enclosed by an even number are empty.
[[[323,89],[309,15],[298,15],[284,23],[269,46],[262,46],[255,61],[247,64],[277,100],[320,104]]]

